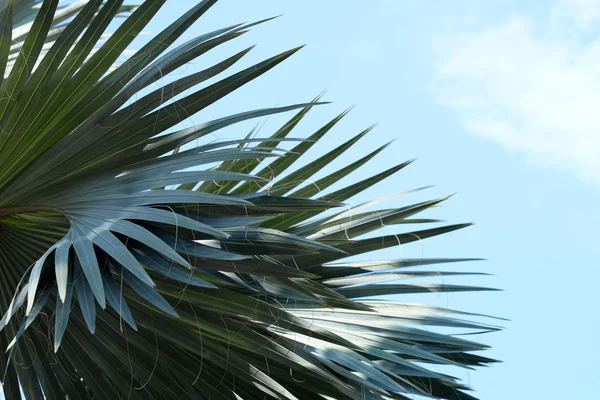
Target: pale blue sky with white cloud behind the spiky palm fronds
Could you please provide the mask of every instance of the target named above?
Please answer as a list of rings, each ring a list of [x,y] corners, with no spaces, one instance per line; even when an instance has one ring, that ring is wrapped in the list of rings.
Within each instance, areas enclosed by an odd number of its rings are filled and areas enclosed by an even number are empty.
[[[146,30],[193,4],[168,0]],[[591,398],[600,379],[600,0],[221,0],[182,40],[280,14],[186,68],[254,44],[239,68],[306,47],[188,124],[326,90],[333,103],[311,112],[300,127],[308,135],[354,106],[312,158],[378,123],[338,165],[395,142],[346,183],[417,161],[350,204],[435,185],[386,205],[456,193],[428,215],[475,222],[371,258],[482,257],[452,269],[493,276],[447,281],[503,290],[418,298],[510,319],[479,337],[493,347],[484,355],[503,363],[459,376],[486,400]],[[284,120],[263,121],[261,133]]]

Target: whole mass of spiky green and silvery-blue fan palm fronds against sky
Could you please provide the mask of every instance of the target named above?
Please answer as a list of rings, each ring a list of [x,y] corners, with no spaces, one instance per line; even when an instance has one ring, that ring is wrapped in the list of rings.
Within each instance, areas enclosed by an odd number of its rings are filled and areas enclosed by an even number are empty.
[[[410,267],[461,260],[343,260],[466,225],[359,238],[382,225],[434,222],[412,217],[444,199],[377,212],[366,211],[372,204],[334,208],[408,165],[321,193],[385,145],[302,185],[369,129],[285,175],[345,114],[307,140],[291,138],[318,99],[170,129],[297,49],[217,78],[243,50],[151,90],[250,27],[171,48],[215,3],[205,0],[115,66],[163,3],[0,3],[0,346],[8,349],[0,368],[7,398],[472,398],[456,378],[426,366],[485,364],[493,360],[472,352],[486,346],[426,327],[495,328],[450,310],[377,300],[481,290],[381,284],[431,275]],[[269,138],[184,146],[294,109]],[[284,141],[296,141],[291,152],[277,148]]]

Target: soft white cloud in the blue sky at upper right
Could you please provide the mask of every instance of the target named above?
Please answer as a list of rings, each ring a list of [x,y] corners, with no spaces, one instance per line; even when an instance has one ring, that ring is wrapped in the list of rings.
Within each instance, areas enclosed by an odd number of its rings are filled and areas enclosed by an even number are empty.
[[[600,18],[600,1],[569,2]],[[600,184],[600,39],[557,39],[556,28],[513,17],[452,38],[434,92],[469,131]]]

